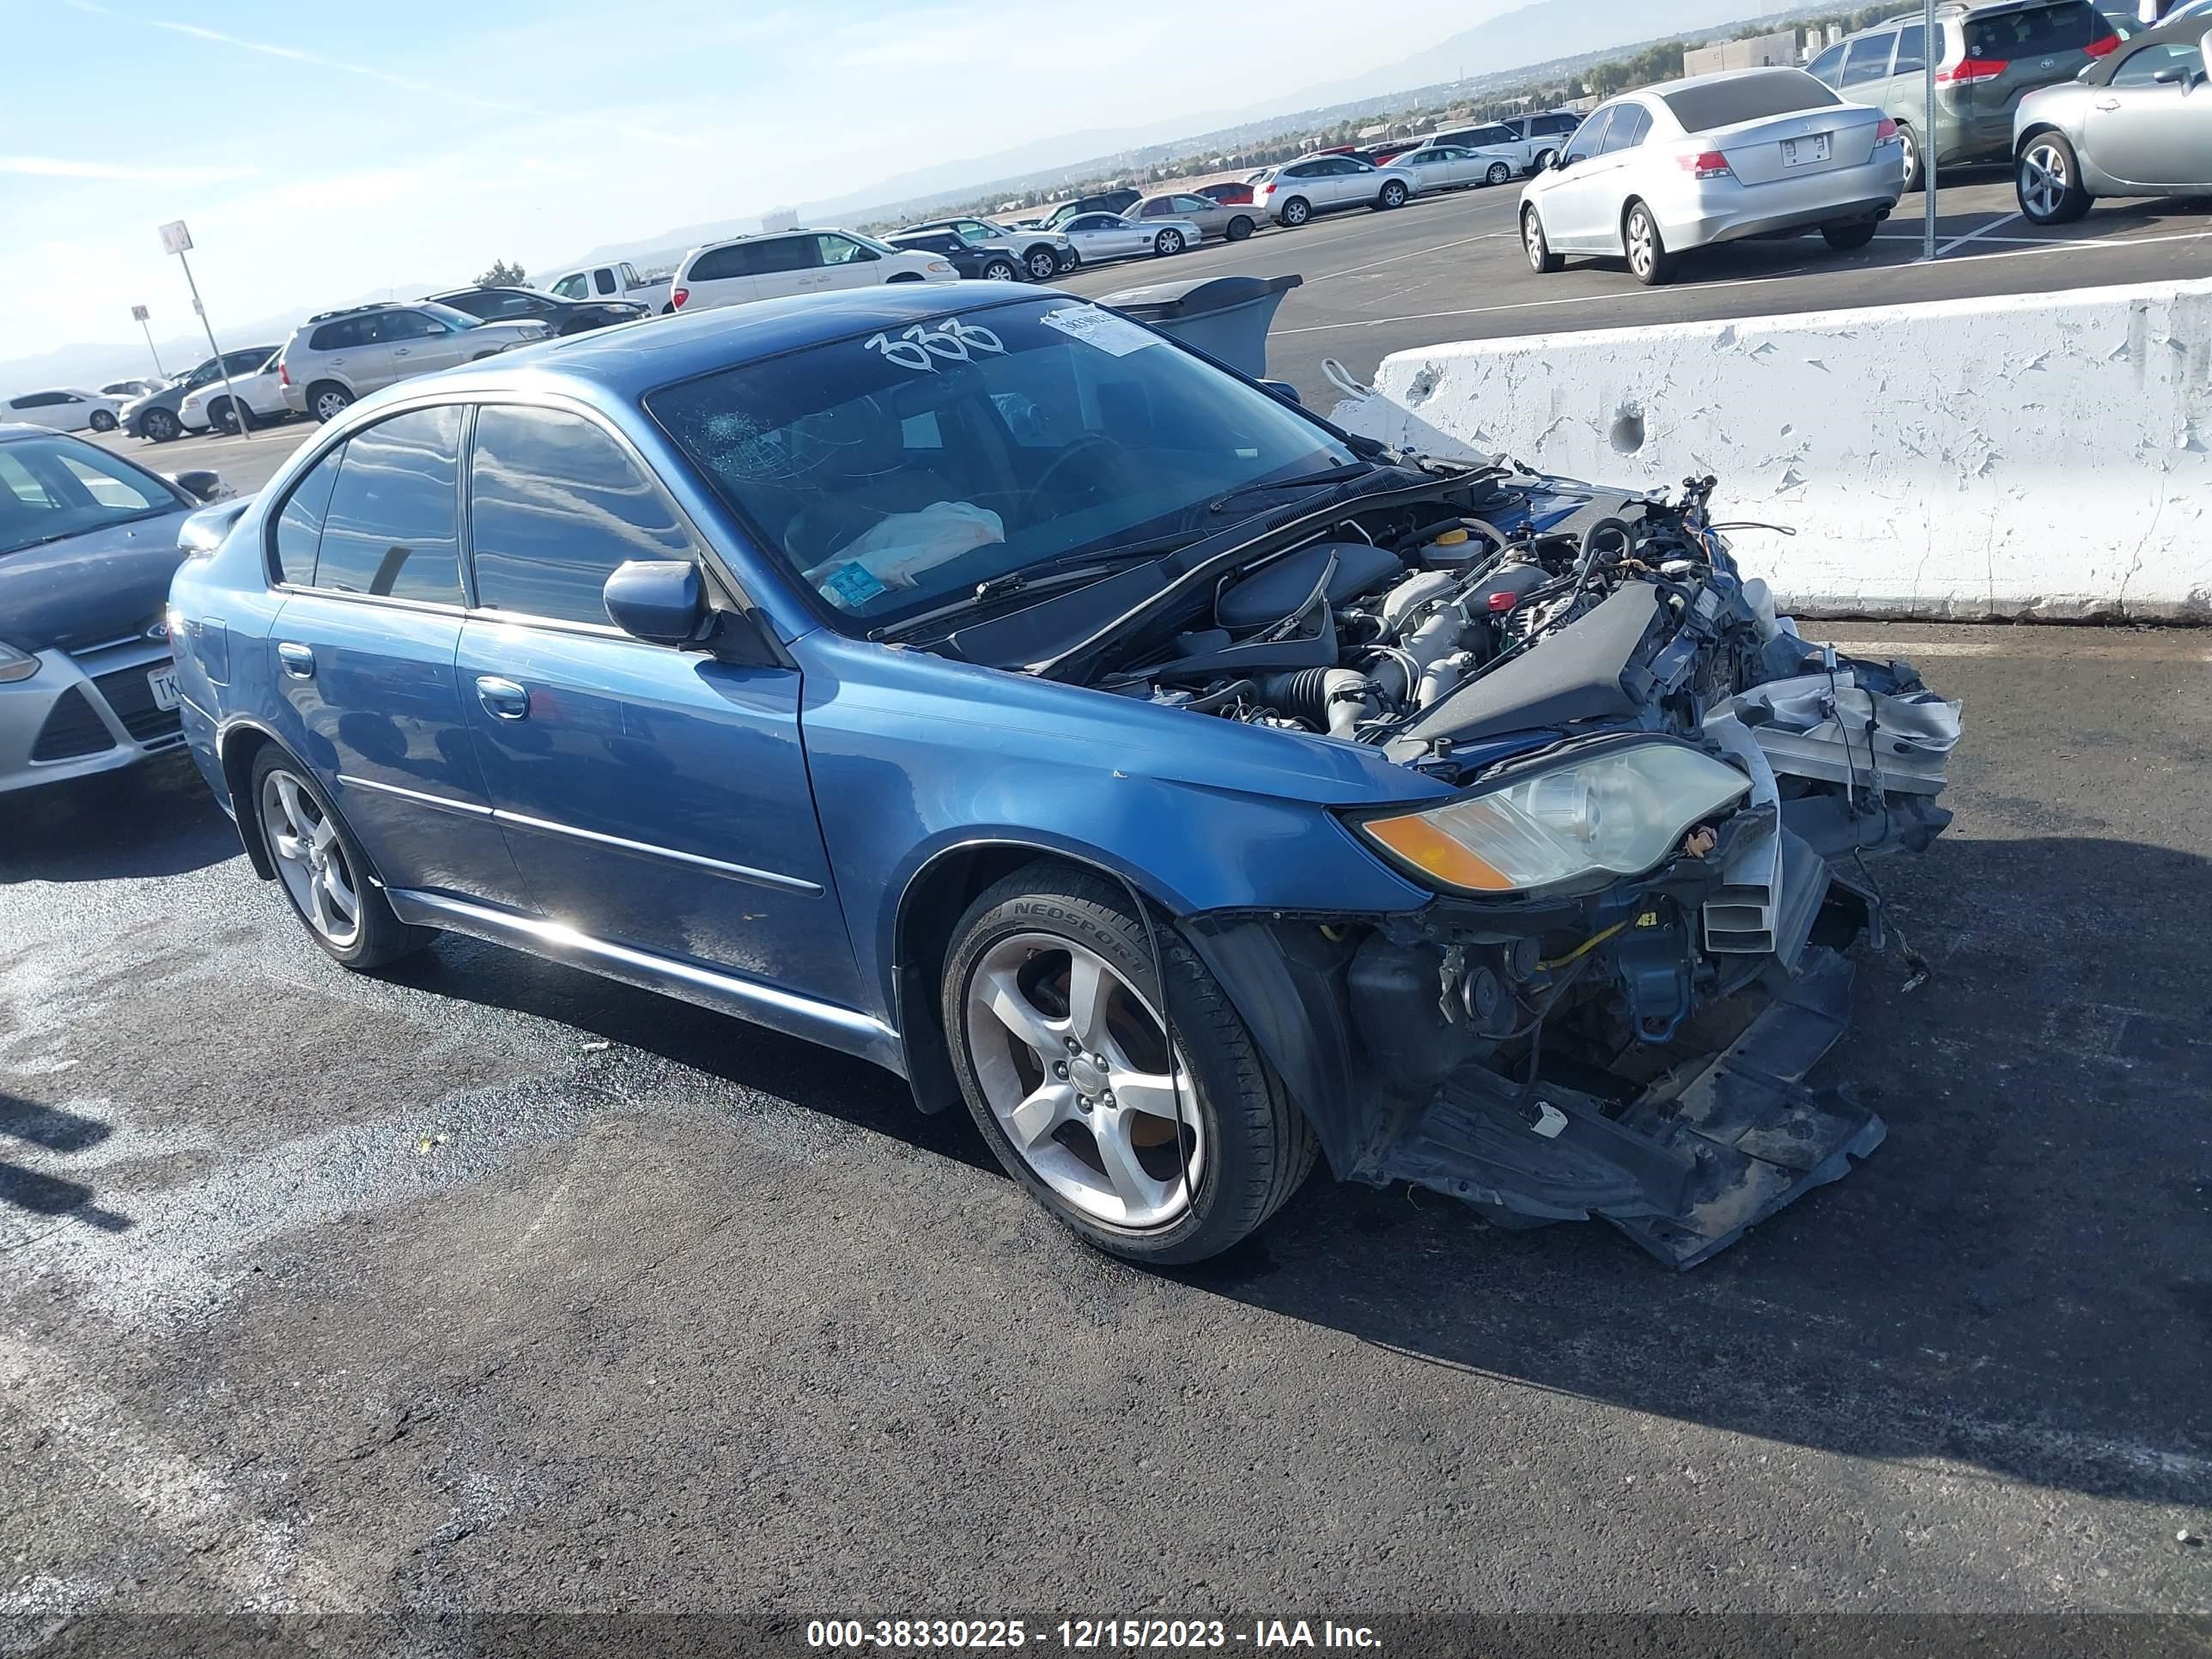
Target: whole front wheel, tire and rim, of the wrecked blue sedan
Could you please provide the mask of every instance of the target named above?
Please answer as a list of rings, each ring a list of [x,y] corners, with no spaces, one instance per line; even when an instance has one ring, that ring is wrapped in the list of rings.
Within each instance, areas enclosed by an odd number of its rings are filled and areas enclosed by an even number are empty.
[[[1256,1230],[1314,1168],[1316,1141],[1181,936],[1155,922],[1152,938],[1179,1095],[1144,920],[1088,872],[1031,865],[984,891],[953,933],[942,1011],[960,1093],[1006,1172],[1086,1243],[1172,1265]],[[1097,995],[1071,1006],[1079,967]]]

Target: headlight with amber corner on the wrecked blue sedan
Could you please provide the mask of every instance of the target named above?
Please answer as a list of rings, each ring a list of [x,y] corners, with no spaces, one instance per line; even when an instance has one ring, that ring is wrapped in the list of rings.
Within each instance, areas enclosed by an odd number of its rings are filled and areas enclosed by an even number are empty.
[[[1358,827],[1438,887],[1520,894],[1639,876],[1750,787],[1686,743],[1624,743]]]

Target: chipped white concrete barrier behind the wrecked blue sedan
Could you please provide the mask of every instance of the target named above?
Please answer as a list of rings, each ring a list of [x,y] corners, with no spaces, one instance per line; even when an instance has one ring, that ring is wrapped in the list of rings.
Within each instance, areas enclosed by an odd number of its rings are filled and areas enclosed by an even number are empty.
[[[2212,281],[1398,352],[1336,418],[1624,487],[1717,473],[1805,615],[2212,622]]]

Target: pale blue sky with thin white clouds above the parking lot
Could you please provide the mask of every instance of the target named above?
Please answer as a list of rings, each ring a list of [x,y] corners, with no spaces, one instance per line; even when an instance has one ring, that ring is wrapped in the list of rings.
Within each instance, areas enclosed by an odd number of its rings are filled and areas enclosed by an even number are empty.
[[[137,343],[133,305],[192,327],[170,219],[221,334],[1055,133],[1197,133],[1500,9],[1416,40],[1343,0],[0,0],[0,363]]]

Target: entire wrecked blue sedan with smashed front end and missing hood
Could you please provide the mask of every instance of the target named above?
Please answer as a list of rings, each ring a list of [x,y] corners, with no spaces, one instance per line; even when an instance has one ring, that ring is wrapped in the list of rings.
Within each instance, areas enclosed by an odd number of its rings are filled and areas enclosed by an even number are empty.
[[[865,1055],[1133,1261],[1318,1155],[1692,1265],[1880,1141],[1805,1075],[1960,730],[1776,619],[1710,491],[876,288],[367,398],[170,628],[345,967],[473,933]]]

